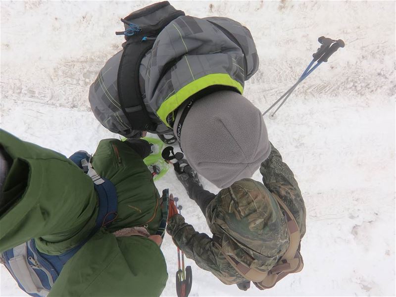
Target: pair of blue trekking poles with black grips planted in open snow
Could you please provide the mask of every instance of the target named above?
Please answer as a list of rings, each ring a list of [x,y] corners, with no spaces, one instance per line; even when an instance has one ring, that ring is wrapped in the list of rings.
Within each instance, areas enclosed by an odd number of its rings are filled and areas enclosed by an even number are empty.
[[[270,111],[279,101],[283,99],[283,101],[279,104],[279,106],[275,109],[275,111],[270,115],[270,117],[274,117],[275,113],[281,108],[281,106],[286,102],[289,96],[293,93],[293,91],[297,88],[297,86],[314,71],[322,62],[327,62],[329,57],[337,51],[339,48],[344,48],[345,43],[341,39],[334,40],[330,38],[326,38],[321,36],[318,38],[318,42],[321,44],[320,48],[312,54],[312,61],[309,63],[308,67],[304,70],[300,78],[297,80],[289,90],[287,90],[278,100],[276,100],[270,107],[267,108],[262,114],[264,116],[268,111]],[[314,63],[316,64],[314,65]]]

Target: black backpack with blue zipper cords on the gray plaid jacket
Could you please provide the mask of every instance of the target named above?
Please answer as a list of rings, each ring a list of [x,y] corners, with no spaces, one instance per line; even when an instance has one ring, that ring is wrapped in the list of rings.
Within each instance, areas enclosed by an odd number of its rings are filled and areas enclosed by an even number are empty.
[[[168,1],[146,6],[121,19],[125,35],[117,76],[118,97],[121,109],[131,127],[140,131],[155,131],[157,124],[148,115],[139,85],[139,68],[145,54],[150,50],[162,29],[179,16],[185,15],[176,10]]]

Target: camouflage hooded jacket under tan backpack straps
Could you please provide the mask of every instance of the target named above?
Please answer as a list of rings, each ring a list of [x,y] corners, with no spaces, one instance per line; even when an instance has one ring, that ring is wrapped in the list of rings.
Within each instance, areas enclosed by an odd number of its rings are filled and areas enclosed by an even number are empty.
[[[235,183],[239,187],[233,187],[234,184],[221,190],[206,207],[206,221],[213,235],[221,239],[222,249],[227,254],[248,267],[268,271],[289,247],[284,211],[273,195],[278,195],[295,216],[301,238],[305,234],[305,206],[293,172],[273,146],[269,157],[261,164],[260,173],[264,185],[244,179]],[[259,193],[255,193],[257,191]],[[242,195],[243,192],[247,195]],[[238,208],[234,220],[230,220],[230,213],[219,211],[232,208]],[[224,284],[247,281],[228,262],[212,238],[196,232],[181,215],[170,218],[167,232],[188,258]]]

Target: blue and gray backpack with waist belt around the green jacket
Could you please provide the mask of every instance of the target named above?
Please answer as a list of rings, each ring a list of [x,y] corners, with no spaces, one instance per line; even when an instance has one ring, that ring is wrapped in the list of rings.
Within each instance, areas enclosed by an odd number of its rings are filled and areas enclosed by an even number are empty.
[[[99,197],[99,212],[95,228],[77,247],[60,255],[41,253],[34,239],[1,253],[0,261],[11,273],[18,286],[30,296],[45,297],[59,276],[63,265],[101,228],[108,226],[117,216],[117,193],[114,185],[100,177],[86,151],[77,151],[69,159],[87,173],[94,182]]]

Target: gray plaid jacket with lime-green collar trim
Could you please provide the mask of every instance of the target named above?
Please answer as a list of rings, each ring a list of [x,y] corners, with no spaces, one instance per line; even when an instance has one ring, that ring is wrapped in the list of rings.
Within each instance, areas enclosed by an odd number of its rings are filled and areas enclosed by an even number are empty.
[[[148,16],[144,23],[150,21]],[[91,85],[89,101],[104,127],[134,137],[139,133],[131,127],[118,98],[121,56],[122,50],[100,70]],[[160,32],[140,65],[143,101],[150,118],[158,125],[156,131],[149,132],[173,134],[176,110],[199,91],[209,87],[214,87],[213,91],[231,88],[242,94],[245,81],[257,69],[254,41],[249,30],[237,21],[225,17],[176,18]]]

